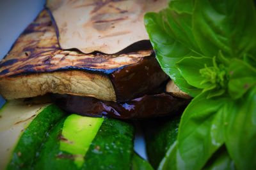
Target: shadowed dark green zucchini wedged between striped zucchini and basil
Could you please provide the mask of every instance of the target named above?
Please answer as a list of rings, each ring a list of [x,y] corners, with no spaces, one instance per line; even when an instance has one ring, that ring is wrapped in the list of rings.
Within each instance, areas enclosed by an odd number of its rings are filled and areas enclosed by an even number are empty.
[[[154,169],[157,169],[168,148],[175,142],[179,122],[180,115],[143,123],[148,160]]]

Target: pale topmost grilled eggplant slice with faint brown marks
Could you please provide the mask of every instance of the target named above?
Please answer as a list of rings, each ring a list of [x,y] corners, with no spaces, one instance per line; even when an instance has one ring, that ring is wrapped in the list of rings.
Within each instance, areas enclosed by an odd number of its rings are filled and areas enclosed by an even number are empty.
[[[116,53],[141,40],[149,40],[143,16],[159,11],[167,0],[49,0],[60,46],[84,53]]]

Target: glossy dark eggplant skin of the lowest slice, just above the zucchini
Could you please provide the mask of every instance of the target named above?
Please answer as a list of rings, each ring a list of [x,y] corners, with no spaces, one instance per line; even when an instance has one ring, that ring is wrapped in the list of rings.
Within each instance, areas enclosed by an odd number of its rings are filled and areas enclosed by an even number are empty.
[[[52,94],[54,102],[68,113],[91,117],[113,117],[120,119],[141,119],[176,114],[188,105],[189,99],[173,97],[168,93],[151,94],[115,103],[101,101],[94,97]]]

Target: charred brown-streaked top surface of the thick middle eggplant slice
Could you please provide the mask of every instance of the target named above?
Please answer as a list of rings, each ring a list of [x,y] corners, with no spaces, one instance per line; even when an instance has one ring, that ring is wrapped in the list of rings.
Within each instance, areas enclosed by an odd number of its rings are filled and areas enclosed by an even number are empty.
[[[54,26],[49,22],[51,22],[51,17],[44,10],[35,22],[29,25],[29,28],[21,34],[13,49],[0,62],[0,78],[30,74],[34,73],[34,71],[35,73],[44,73],[66,70],[67,67],[68,69],[84,69],[84,71],[92,69],[100,73],[109,73],[109,71],[103,70],[117,69],[127,64],[140,62],[141,57],[147,57],[152,52],[152,48],[148,45],[146,45],[149,47],[147,50],[128,51],[127,53],[113,55],[104,53],[84,54],[77,51],[60,50]],[[33,28],[33,31],[31,28]],[[30,30],[29,33],[28,30]],[[41,32],[38,33],[36,31]],[[45,36],[45,32],[52,35],[44,39],[42,36]],[[30,34],[35,36],[33,37],[34,39],[29,37]],[[47,41],[47,43],[44,41]],[[138,45],[141,46],[140,43]],[[133,47],[131,49],[133,50]],[[58,55],[61,55],[61,58]],[[126,57],[129,61],[124,63],[116,62],[115,59],[118,57]],[[58,64],[52,64],[54,62]],[[38,66],[40,66],[40,69]]]

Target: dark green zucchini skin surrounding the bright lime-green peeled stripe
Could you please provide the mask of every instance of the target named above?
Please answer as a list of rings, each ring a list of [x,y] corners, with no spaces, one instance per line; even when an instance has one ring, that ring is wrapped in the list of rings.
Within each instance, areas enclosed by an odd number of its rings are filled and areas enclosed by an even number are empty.
[[[77,167],[74,164],[76,155],[60,150],[63,122],[51,131],[33,169],[131,169],[134,134],[131,124],[104,118],[84,156],[83,166]]]

